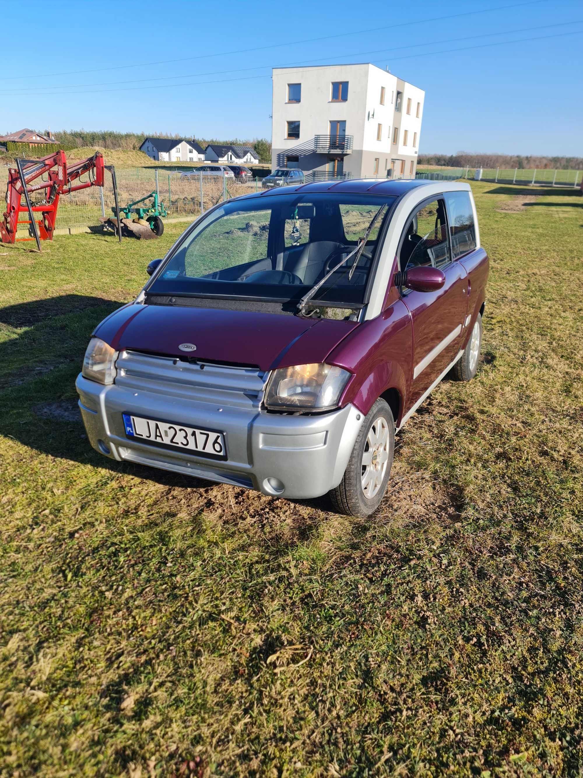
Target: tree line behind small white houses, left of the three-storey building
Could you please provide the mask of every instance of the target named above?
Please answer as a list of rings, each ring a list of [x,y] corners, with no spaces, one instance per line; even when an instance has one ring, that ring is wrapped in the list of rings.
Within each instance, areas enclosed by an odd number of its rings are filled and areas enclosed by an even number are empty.
[[[81,146],[99,146],[103,149],[125,149],[136,151],[146,138],[171,138],[178,140],[183,135],[168,132],[115,132],[113,130],[59,130],[53,133],[53,137],[59,143],[79,148]],[[189,140],[190,138],[185,138]],[[271,141],[266,138],[191,138],[204,149],[209,143],[217,145],[248,145],[259,155],[261,162],[271,161]]]

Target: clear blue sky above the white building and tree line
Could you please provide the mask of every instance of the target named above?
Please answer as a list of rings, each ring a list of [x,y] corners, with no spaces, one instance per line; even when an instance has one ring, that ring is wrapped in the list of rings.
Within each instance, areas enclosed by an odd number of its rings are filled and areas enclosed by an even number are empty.
[[[0,36],[2,134],[271,138],[271,66],[371,61],[425,90],[421,153],[583,156],[581,0],[57,0],[5,5]]]

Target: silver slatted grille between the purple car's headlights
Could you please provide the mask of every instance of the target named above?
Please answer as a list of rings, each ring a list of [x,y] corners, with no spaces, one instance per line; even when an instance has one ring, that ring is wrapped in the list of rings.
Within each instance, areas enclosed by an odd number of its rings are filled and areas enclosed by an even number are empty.
[[[125,350],[117,359],[117,386],[185,400],[259,408],[268,372],[257,367],[183,362]]]

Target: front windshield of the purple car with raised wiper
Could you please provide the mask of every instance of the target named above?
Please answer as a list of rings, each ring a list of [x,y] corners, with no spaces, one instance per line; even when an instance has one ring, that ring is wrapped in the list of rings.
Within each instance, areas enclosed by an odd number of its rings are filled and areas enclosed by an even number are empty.
[[[225,202],[180,240],[146,292],[298,301],[354,250],[379,208],[394,199],[292,192]],[[375,223],[352,277],[354,257],[326,279],[312,304],[365,302],[383,221]]]

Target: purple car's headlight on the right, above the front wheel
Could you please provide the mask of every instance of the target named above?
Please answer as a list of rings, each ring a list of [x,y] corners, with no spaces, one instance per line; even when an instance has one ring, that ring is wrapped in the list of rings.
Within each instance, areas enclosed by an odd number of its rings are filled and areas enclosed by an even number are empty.
[[[324,364],[282,367],[271,374],[265,405],[291,411],[336,408],[350,375],[340,367]]]

